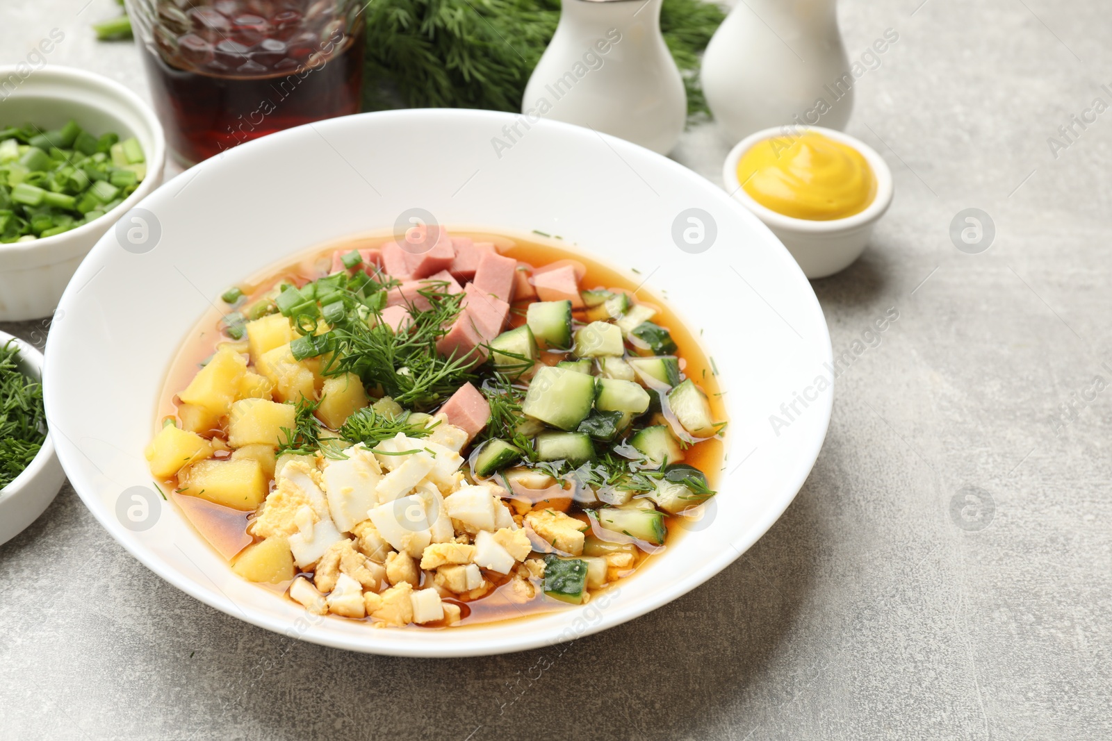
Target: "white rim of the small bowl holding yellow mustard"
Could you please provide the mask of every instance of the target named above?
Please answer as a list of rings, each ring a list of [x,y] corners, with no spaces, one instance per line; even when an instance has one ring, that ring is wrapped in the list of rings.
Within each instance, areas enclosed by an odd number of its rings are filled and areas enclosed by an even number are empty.
[[[745,192],[745,189],[742,188],[742,183],[737,180],[738,160],[742,159],[742,156],[745,152],[749,151],[762,141],[777,137],[795,136],[794,132],[788,131],[788,129],[794,129],[794,131],[814,131],[825,134],[834,141],[854,148],[865,158],[868,166],[872,168],[873,173],[876,176],[876,194],[863,211],[842,219],[797,219],[795,217],[777,213],[776,211],[762,206],[756,202],[753,197]],[[726,154],[726,160],[722,164],[722,180],[726,191],[736,201],[741,202],[745,208],[755,213],[761,221],[768,227],[772,227],[773,229],[783,229],[811,234],[831,234],[852,231],[876,221],[884,216],[885,211],[888,210],[894,191],[892,169],[888,168],[887,162],[884,161],[884,158],[881,157],[875,149],[856,137],[847,134],[843,131],[827,129],[820,126],[788,124],[770,127],[751,133],[748,137],[737,142],[734,148],[729,150],[729,153]]]

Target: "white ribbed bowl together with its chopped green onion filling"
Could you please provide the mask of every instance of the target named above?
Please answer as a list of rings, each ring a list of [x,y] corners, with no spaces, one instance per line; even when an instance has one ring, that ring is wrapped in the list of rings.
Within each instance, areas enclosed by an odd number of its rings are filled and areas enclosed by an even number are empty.
[[[0,321],[50,314],[93,244],[162,180],[155,112],[78,69],[0,67]]]

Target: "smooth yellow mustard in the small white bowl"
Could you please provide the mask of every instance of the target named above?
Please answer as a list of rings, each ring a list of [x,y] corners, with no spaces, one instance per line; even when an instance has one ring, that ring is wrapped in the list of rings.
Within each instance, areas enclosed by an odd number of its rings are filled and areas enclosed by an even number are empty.
[[[862,153],[814,131],[754,144],[737,162],[737,180],[766,209],[813,221],[860,213],[876,197]]]

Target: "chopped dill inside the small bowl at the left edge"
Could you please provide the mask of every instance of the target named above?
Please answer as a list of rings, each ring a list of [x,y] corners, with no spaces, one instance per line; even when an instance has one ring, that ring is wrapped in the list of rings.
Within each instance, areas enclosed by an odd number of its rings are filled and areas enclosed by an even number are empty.
[[[19,346],[0,347],[0,489],[16,480],[47,439],[42,384],[20,370]]]

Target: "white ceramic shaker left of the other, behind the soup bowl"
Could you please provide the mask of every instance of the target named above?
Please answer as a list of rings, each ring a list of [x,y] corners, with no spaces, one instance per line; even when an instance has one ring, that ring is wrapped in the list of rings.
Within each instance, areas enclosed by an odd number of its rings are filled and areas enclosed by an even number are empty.
[[[663,0],[564,0],[522,112],[589,127],[666,154],[687,96],[661,33]]]

